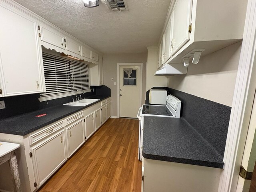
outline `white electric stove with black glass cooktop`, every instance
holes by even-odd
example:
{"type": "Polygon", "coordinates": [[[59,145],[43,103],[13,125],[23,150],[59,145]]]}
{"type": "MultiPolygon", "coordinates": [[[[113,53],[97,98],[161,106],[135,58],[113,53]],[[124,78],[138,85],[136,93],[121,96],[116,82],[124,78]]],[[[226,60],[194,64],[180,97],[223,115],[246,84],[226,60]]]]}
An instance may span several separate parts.
{"type": "Polygon", "coordinates": [[[172,96],[166,97],[166,105],[142,105],[139,108],[137,118],[140,120],[138,159],[142,160],[143,126],[144,116],[159,116],[167,118],[180,118],[181,101],[172,96]]]}

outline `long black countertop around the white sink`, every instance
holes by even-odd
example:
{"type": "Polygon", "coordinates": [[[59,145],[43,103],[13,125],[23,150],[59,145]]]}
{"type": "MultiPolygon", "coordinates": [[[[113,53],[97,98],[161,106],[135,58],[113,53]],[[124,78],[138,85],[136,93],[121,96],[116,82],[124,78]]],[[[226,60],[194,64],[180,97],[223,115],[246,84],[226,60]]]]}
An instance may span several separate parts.
{"type": "Polygon", "coordinates": [[[97,96],[97,95],[90,96],[88,98],[100,99],[100,100],[83,107],[58,105],[58,106],[6,118],[4,120],[1,120],[0,122],[0,133],[24,136],[44,126],[47,126],[53,122],[56,122],[62,118],[65,118],[66,116],[69,116],[78,111],[84,110],[85,108],[88,108],[109,97],[110,96],[97,96]],[[47,115],[42,117],[36,117],[39,114],[47,114],[47,115]]]}

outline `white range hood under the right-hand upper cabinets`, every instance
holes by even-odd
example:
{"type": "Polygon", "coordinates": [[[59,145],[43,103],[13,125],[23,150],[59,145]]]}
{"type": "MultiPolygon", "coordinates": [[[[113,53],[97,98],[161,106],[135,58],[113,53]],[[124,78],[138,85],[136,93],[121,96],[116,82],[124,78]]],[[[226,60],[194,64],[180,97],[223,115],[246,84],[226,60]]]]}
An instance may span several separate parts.
{"type": "Polygon", "coordinates": [[[164,64],[154,75],[180,75],[187,74],[188,67],[181,63],[164,64]]]}

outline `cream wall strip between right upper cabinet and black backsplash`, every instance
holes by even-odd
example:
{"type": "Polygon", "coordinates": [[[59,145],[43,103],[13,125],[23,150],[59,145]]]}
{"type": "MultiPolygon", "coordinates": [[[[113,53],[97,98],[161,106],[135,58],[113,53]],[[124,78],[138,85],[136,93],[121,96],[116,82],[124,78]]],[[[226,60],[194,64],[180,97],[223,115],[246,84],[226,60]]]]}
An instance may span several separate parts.
{"type": "Polygon", "coordinates": [[[232,106],[242,42],[238,42],[190,63],[188,73],[169,76],[168,87],[232,106]]]}

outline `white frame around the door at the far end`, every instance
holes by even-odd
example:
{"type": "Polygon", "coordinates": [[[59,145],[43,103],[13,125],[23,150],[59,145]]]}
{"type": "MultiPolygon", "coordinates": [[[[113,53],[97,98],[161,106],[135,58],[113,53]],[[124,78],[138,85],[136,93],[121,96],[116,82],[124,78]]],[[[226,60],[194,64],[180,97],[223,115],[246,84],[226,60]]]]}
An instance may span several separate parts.
{"type": "MultiPolygon", "coordinates": [[[[139,65],[140,66],[140,106],[142,106],[142,72],[143,72],[143,63],[118,63],[117,64],[117,118],[120,118],[120,98],[119,98],[119,84],[120,84],[120,67],[121,66],[133,66],[139,65]]],[[[139,106],[139,107],[140,107],[139,106]]]]}

